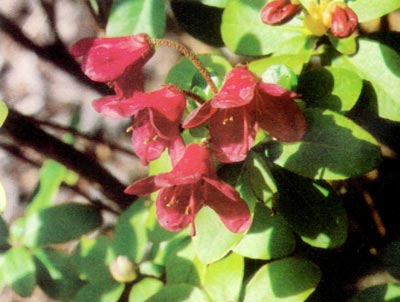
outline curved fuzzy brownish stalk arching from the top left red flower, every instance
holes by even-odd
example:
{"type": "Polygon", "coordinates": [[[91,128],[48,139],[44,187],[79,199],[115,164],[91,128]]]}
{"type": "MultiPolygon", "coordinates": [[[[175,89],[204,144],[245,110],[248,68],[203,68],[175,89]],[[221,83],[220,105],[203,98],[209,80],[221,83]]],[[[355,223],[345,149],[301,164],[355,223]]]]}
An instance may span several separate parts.
{"type": "Polygon", "coordinates": [[[157,46],[171,47],[179,51],[181,54],[187,57],[193,63],[194,66],[196,66],[196,68],[199,70],[201,75],[206,80],[207,84],[210,86],[211,91],[214,94],[218,92],[217,86],[215,86],[214,82],[212,81],[210,74],[208,73],[204,65],[200,62],[200,60],[196,57],[195,53],[191,51],[189,48],[175,41],[167,39],[151,39],[151,42],[157,46]]]}

